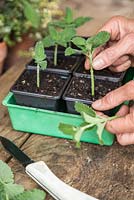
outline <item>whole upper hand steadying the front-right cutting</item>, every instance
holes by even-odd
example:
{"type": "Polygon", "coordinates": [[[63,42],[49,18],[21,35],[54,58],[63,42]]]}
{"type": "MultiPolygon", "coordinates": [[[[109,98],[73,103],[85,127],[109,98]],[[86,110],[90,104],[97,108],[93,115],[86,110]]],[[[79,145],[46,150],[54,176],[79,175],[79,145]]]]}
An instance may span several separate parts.
{"type": "MultiPolygon", "coordinates": [[[[134,56],[134,20],[122,16],[112,17],[99,31],[110,33],[110,42],[98,48],[94,54],[93,67],[96,70],[110,66],[110,70],[121,72],[128,69],[134,56]]],[[[88,59],[85,68],[89,69],[88,59]]]]}

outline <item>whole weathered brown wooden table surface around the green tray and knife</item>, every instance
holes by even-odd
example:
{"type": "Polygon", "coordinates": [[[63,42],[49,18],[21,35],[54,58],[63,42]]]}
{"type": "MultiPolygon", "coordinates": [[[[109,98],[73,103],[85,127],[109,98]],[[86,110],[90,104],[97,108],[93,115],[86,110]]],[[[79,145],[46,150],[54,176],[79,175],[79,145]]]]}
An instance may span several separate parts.
{"type": "MultiPolygon", "coordinates": [[[[91,5],[87,8],[81,0],[67,1],[68,5],[76,9],[78,7],[78,15],[81,15],[81,13],[86,15],[89,12],[90,16],[95,17],[96,13],[98,17],[95,9],[100,1],[88,0],[85,2],[91,3],[91,5]]],[[[94,33],[100,23],[109,16],[118,13],[117,9],[112,8],[120,8],[119,14],[132,8],[132,5],[130,5],[132,1],[130,1],[129,6],[125,4],[126,1],[113,1],[114,7],[111,7],[111,1],[107,1],[107,7],[109,2],[108,9],[105,4],[106,1],[103,0],[102,2],[103,6],[99,4],[98,9],[101,10],[103,15],[91,22],[92,30],[89,30],[87,26],[85,29],[81,29],[79,32],[82,35],[94,33]],[[117,2],[119,6],[115,6],[117,2]],[[122,12],[121,2],[125,4],[123,4],[122,12]],[[104,14],[105,12],[107,15],[104,14]]],[[[26,59],[20,59],[17,65],[11,67],[0,77],[0,102],[23,71],[26,62],[26,59]]],[[[113,146],[106,147],[82,143],[81,149],[76,149],[74,143],[69,140],[18,132],[13,130],[7,108],[1,103],[0,135],[12,140],[32,159],[45,161],[59,178],[83,192],[101,200],[134,200],[134,145],[122,147],[115,142],[113,146]]],[[[39,188],[25,174],[24,168],[18,161],[5,152],[1,144],[0,159],[12,167],[16,183],[24,185],[26,189],[39,188]]],[[[47,195],[47,200],[52,199],[47,195]]]]}

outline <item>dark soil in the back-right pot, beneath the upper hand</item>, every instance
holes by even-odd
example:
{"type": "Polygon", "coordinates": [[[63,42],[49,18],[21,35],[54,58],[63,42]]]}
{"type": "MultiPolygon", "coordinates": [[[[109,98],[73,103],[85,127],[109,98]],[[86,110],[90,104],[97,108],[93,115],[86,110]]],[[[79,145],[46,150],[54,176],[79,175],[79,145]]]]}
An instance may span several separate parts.
{"type": "MultiPolygon", "coordinates": [[[[75,73],[77,73],[77,75],[81,75],[84,77],[90,77],[90,71],[86,70],[84,68],[84,64],[85,61],[82,62],[82,64],[76,69],[75,73]]],[[[100,76],[100,77],[104,77],[105,79],[114,79],[117,81],[122,81],[125,72],[113,72],[111,70],[107,69],[103,69],[103,70],[94,70],[94,75],[95,76],[100,76]]]]}

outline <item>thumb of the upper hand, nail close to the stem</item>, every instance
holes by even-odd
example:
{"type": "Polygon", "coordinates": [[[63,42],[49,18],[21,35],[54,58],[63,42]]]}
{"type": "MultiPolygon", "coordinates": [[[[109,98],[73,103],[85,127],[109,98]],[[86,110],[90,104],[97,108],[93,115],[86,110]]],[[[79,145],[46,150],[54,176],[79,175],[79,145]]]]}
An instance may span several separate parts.
{"type": "Polygon", "coordinates": [[[134,55],[134,33],[127,34],[115,45],[98,54],[93,60],[94,69],[104,69],[125,54],[134,55]]]}

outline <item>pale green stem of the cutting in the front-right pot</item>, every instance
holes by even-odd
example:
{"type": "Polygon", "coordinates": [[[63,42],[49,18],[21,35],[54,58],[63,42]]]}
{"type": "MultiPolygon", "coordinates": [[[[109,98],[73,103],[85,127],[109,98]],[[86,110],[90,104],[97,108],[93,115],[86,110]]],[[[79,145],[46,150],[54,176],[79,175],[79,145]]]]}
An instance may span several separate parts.
{"type": "Polygon", "coordinates": [[[92,96],[95,95],[95,84],[94,84],[94,70],[93,70],[93,60],[92,60],[92,54],[89,53],[89,63],[90,63],[90,75],[91,75],[91,94],[92,96]]]}

